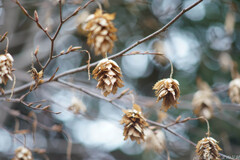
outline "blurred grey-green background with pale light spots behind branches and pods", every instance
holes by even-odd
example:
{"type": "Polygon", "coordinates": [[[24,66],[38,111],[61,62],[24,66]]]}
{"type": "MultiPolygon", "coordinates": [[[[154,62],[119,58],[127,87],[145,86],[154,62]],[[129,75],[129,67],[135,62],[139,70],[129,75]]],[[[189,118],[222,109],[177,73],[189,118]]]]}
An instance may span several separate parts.
{"type": "MultiPolygon", "coordinates": [[[[59,24],[59,8],[57,0],[21,0],[21,4],[33,15],[38,11],[39,21],[52,34],[59,24]]],[[[63,17],[71,14],[79,5],[87,1],[65,0],[63,17]]],[[[99,1],[107,13],[116,13],[114,20],[118,29],[118,40],[113,54],[125,49],[137,40],[163,27],[183,8],[196,0],[102,0],[99,1]]],[[[86,33],[82,23],[89,14],[98,8],[97,3],[91,3],[86,9],[67,21],[56,39],[54,54],[67,50],[70,45],[82,46],[91,53],[91,62],[101,59],[95,56],[93,50],[86,44],[86,33]]],[[[138,45],[131,51],[160,52],[168,57],[174,66],[173,78],[180,83],[181,97],[178,109],[171,108],[163,123],[168,124],[179,115],[182,118],[196,117],[193,113],[192,98],[198,90],[196,78],[209,84],[214,94],[220,98],[222,109],[215,109],[209,120],[211,136],[219,141],[222,153],[230,156],[240,156],[240,105],[232,104],[228,97],[228,84],[232,80],[230,64],[232,59],[240,62],[240,1],[238,0],[204,0],[202,3],[185,13],[165,32],[138,45]]],[[[28,19],[14,0],[0,0],[0,34],[8,31],[9,53],[14,57],[14,74],[16,86],[31,81],[27,72],[31,69],[32,53],[39,46],[38,56],[45,62],[50,53],[50,41],[46,35],[28,19]]],[[[4,53],[6,42],[0,43],[1,53],[4,53]]],[[[131,52],[130,51],[130,52],[131,52]]],[[[50,63],[45,77],[51,76],[57,67],[58,73],[86,64],[88,56],[84,53],[72,52],[61,56],[50,63]]],[[[35,60],[34,60],[35,61],[35,60]]],[[[152,86],[170,74],[169,61],[160,56],[134,55],[115,59],[123,72],[124,87],[121,93],[129,88],[136,96],[144,115],[151,120],[158,120],[161,102],[156,98],[152,86]]],[[[37,64],[35,67],[38,69],[37,64]]],[[[239,67],[238,67],[239,68],[239,67]]],[[[92,70],[92,68],[91,68],[92,70]]],[[[87,72],[80,72],[63,78],[74,84],[101,94],[96,89],[97,82],[88,80],[87,72]]],[[[8,83],[5,90],[11,88],[8,83]]],[[[21,92],[16,97],[25,93],[21,92]]],[[[114,96],[109,96],[113,98],[114,96]]],[[[116,97],[116,96],[115,96],[116,97]]],[[[123,112],[110,103],[91,97],[81,91],[63,86],[59,83],[48,83],[40,86],[26,100],[46,100],[54,112],[34,111],[37,120],[48,127],[62,126],[72,139],[72,160],[155,160],[167,159],[166,151],[157,153],[146,150],[130,140],[124,141],[123,126],[119,121],[123,112]],[[74,114],[68,108],[81,104],[80,114],[74,114]]],[[[126,95],[117,100],[123,108],[131,108],[131,96],[126,95]]],[[[24,141],[30,149],[45,149],[51,160],[66,159],[68,138],[66,134],[37,127],[36,141],[32,133],[25,138],[21,134],[12,135],[14,127],[19,122],[20,129],[31,129],[32,124],[15,118],[7,111],[8,108],[18,110],[28,116],[31,109],[22,104],[0,102],[0,159],[11,159],[14,150],[22,144],[14,140],[14,136],[24,141]]],[[[207,132],[206,123],[190,121],[171,127],[175,132],[197,143],[207,132]]],[[[182,139],[164,131],[166,148],[171,159],[193,159],[195,148],[182,139]]],[[[34,153],[34,159],[41,160],[44,156],[34,153]]]]}

